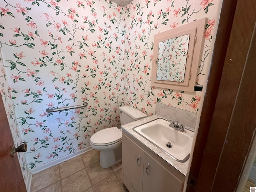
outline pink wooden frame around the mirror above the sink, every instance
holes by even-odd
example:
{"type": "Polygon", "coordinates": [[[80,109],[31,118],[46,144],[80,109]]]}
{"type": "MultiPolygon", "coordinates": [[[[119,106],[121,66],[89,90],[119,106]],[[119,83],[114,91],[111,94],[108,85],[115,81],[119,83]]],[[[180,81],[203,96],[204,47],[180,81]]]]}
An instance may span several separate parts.
{"type": "Polygon", "coordinates": [[[196,73],[200,56],[202,55],[202,47],[204,44],[204,29],[207,18],[202,18],[182,26],[160,32],[154,35],[154,48],[152,58],[152,76],[151,86],[156,88],[174,89],[181,91],[194,92],[196,83],[196,73]],[[158,46],[159,42],[171,38],[190,34],[188,45],[188,57],[185,68],[185,76],[183,82],[174,82],[166,80],[156,80],[157,63],[158,63],[158,46]]]}

